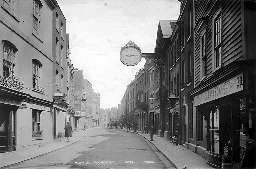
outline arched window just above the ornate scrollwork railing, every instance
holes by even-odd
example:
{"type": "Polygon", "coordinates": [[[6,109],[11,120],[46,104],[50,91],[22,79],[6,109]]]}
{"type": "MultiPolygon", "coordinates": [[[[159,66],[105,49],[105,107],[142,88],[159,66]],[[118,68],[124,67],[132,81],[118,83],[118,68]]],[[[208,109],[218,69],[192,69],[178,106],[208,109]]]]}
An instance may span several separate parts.
{"type": "Polygon", "coordinates": [[[3,77],[14,74],[15,54],[17,49],[10,43],[2,41],[3,46],[3,77]]]}

